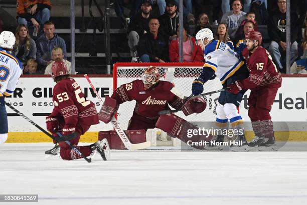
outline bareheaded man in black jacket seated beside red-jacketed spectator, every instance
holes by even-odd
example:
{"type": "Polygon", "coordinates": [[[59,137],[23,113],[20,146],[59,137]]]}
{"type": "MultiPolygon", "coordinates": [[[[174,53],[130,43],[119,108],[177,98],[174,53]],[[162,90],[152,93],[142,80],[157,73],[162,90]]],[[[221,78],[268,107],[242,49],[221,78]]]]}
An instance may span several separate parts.
{"type": "Polygon", "coordinates": [[[168,36],[159,30],[158,18],[149,20],[149,32],[140,36],[138,54],[142,62],[168,62],[168,36]]]}

